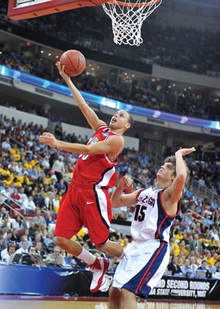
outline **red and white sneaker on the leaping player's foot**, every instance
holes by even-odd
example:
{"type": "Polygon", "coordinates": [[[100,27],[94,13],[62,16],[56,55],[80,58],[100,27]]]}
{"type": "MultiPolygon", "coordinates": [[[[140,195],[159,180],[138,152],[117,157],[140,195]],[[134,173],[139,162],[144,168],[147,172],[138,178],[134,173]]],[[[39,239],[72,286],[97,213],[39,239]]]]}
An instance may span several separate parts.
{"type": "Polygon", "coordinates": [[[93,280],[90,284],[90,292],[95,293],[99,290],[103,276],[108,270],[109,262],[106,258],[95,258],[95,262],[88,265],[89,270],[93,273],[93,280]]]}

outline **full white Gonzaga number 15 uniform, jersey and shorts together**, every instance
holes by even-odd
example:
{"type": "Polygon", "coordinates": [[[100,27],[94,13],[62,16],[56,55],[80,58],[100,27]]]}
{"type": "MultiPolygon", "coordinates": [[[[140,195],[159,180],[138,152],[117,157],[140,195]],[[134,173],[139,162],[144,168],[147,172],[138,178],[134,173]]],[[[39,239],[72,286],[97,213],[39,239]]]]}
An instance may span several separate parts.
{"type": "Polygon", "coordinates": [[[117,266],[112,286],[125,288],[139,297],[147,295],[166,271],[169,263],[169,231],[175,216],[169,216],[161,201],[165,188],[139,190],[132,218],[133,241],[117,266]]]}

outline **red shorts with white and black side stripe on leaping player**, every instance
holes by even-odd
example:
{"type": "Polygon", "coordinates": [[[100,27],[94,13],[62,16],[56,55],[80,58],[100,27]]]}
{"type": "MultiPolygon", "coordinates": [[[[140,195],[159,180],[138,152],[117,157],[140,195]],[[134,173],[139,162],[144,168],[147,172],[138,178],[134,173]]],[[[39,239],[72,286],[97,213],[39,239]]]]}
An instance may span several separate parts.
{"type": "Polygon", "coordinates": [[[60,202],[54,236],[71,239],[87,227],[91,242],[102,244],[108,240],[111,220],[108,190],[72,181],[60,202]]]}

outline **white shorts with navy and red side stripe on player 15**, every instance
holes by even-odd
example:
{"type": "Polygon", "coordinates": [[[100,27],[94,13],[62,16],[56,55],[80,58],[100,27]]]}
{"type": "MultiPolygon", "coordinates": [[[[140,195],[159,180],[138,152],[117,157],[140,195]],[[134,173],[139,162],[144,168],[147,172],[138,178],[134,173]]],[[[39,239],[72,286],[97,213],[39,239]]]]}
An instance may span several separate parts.
{"type": "Polygon", "coordinates": [[[169,244],[160,240],[131,242],[117,266],[112,286],[125,288],[139,297],[160,281],[169,264],[169,244]]]}

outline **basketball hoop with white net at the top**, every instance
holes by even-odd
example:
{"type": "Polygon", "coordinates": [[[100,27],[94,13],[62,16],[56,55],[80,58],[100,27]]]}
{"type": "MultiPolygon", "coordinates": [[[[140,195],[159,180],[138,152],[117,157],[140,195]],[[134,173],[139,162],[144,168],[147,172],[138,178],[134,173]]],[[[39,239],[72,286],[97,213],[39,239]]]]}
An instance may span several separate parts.
{"type": "Polygon", "coordinates": [[[143,43],[143,21],[158,8],[162,0],[112,0],[103,3],[103,10],[112,19],[113,41],[116,44],[139,46],[143,43]]]}

